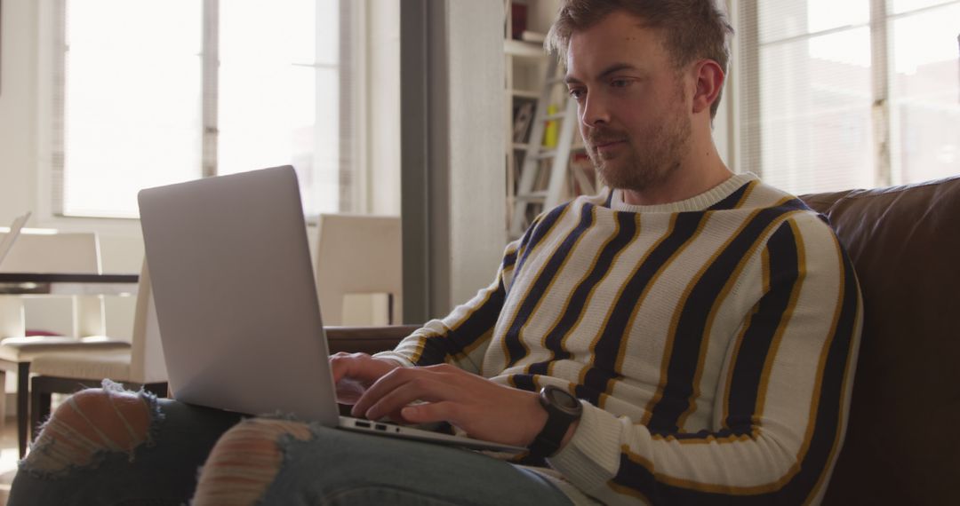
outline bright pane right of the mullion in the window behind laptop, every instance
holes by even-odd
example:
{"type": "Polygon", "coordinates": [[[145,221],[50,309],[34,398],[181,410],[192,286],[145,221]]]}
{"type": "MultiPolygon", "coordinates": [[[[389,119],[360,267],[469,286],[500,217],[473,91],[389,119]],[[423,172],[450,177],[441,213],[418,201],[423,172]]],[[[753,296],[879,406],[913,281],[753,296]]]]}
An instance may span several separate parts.
{"type": "Polygon", "coordinates": [[[340,208],[337,27],[334,1],[220,4],[217,172],[291,164],[310,215],[340,208]]]}

